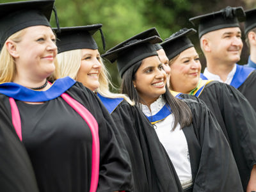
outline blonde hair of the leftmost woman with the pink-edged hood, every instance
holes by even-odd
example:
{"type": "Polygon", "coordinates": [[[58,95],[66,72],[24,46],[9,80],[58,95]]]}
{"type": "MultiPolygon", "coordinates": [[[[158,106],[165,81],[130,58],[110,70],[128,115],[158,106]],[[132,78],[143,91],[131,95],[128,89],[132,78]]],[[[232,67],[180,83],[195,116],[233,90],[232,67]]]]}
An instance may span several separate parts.
{"type": "MultiPolygon", "coordinates": [[[[22,29],[13,35],[11,35],[8,40],[12,40],[13,42],[20,42],[22,36],[24,35],[26,29],[22,29]]],[[[15,60],[12,55],[6,48],[6,44],[4,43],[3,48],[0,52],[0,83],[12,82],[16,75],[16,66],[15,60]]]]}

